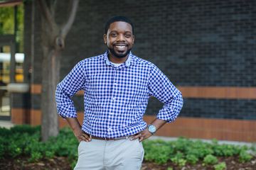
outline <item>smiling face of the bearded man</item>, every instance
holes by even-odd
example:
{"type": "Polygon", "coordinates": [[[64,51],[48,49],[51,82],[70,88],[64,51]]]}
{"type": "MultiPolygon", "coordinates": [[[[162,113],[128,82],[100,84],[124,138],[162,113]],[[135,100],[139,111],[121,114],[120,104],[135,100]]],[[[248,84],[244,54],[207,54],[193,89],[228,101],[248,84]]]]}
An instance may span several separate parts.
{"type": "Polygon", "coordinates": [[[104,42],[113,57],[127,57],[134,44],[132,26],[123,21],[111,23],[107,35],[104,35],[104,42]]]}

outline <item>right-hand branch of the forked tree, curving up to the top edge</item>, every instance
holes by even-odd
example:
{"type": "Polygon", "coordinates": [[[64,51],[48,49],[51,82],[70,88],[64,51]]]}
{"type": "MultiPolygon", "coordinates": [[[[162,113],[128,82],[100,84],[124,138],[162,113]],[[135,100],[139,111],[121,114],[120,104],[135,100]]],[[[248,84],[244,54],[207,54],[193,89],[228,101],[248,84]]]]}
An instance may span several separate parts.
{"type": "Polygon", "coordinates": [[[61,35],[63,38],[65,38],[65,36],[68,34],[68,31],[70,30],[71,26],[73,25],[73,22],[75,21],[75,13],[78,11],[79,0],[72,0],[72,2],[72,9],[70,11],[68,21],[61,28],[61,35]]]}

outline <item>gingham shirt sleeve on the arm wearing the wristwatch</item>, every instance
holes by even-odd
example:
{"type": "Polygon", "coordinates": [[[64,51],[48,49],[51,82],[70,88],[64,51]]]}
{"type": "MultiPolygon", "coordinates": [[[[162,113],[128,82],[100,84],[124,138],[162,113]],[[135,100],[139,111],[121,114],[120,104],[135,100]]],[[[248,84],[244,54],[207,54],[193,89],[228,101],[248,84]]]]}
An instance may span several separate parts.
{"type": "Polygon", "coordinates": [[[150,95],[164,103],[156,118],[166,120],[167,123],[176,120],[183,106],[181,92],[155,65],[151,69],[148,86],[150,95]]]}

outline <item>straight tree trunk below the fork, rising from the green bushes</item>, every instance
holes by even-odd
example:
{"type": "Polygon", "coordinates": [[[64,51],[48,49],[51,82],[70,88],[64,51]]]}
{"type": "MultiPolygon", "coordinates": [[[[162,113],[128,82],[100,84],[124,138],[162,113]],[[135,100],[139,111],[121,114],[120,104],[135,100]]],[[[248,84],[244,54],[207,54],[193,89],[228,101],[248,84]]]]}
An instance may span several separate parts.
{"type": "Polygon", "coordinates": [[[42,80],[42,140],[58,135],[58,113],[55,103],[55,89],[59,81],[60,50],[43,49],[43,80],[42,80]]]}

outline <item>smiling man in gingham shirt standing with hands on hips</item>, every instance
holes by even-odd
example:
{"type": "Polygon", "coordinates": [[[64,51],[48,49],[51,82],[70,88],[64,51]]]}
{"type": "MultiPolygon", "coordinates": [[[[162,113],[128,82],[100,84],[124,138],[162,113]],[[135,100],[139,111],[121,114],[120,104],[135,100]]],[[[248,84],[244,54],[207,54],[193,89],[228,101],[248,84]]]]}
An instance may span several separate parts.
{"type": "Polygon", "coordinates": [[[75,169],[140,169],[142,140],[174,121],[183,99],[154,64],[132,55],[134,26],[128,18],[107,21],[103,38],[107,52],[82,60],[58,84],[58,113],[80,142],[75,169]],[[70,99],[79,90],[85,91],[82,126],[70,99]],[[146,125],[142,118],[150,96],[164,107],[146,125]]]}

